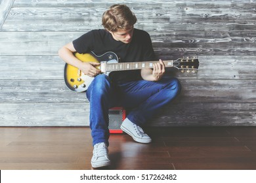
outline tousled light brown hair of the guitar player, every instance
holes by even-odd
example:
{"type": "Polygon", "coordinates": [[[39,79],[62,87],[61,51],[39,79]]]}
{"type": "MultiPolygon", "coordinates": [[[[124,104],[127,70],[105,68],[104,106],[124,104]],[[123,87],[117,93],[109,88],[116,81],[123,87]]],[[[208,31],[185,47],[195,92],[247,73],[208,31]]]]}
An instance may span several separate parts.
{"type": "Polygon", "coordinates": [[[135,14],[126,5],[112,5],[102,16],[103,27],[111,32],[130,29],[136,22],[135,14]]]}

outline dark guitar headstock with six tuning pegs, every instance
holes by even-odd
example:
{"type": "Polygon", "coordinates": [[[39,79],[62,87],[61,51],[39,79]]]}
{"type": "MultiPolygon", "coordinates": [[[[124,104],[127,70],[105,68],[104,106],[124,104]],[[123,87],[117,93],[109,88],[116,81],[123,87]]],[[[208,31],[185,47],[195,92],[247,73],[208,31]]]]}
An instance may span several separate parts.
{"type": "Polygon", "coordinates": [[[199,67],[198,58],[179,58],[173,61],[173,67],[181,70],[181,73],[196,73],[199,67]]]}

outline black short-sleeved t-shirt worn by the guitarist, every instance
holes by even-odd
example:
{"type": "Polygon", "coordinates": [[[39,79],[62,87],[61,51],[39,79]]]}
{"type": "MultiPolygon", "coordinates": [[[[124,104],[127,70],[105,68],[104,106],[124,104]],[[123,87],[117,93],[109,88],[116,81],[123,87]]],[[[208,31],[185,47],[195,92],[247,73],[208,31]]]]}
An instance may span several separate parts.
{"type": "MultiPolygon", "coordinates": [[[[119,62],[152,61],[155,59],[150,35],[146,31],[134,29],[133,39],[128,44],[116,41],[105,29],[97,29],[85,33],[73,41],[79,54],[93,51],[100,56],[106,52],[114,52],[119,62]]],[[[140,70],[115,71],[110,73],[114,82],[141,80],[140,70]]]]}

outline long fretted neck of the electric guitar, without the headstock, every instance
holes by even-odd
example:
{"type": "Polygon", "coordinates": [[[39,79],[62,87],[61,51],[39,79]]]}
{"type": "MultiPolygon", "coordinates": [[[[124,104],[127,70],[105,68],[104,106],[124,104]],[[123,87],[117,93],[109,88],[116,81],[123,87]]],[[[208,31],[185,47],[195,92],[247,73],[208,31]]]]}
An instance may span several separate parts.
{"type": "MultiPolygon", "coordinates": [[[[124,63],[106,63],[104,71],[129,71],[137,69],[153,69],[153,64],[159,61],[139,61],[139,62],[124,62],[124,63]]],[[[173,60],[163,61],[165,67],[173,67],[173,60]]]]}

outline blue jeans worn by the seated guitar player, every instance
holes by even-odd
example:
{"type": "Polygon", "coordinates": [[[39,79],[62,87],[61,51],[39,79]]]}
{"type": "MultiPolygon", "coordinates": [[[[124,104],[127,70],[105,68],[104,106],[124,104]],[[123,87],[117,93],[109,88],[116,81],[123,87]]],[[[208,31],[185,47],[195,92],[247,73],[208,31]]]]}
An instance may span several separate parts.
{"type": "Polygon", "coordinates": [[[142,127],[161,107],[171,102],[181,91],[177,78],[162,78],[159,82],[138,80],[113,84],[107,75],[98,75],[86,95],[90,101],[90,127],[93,145],[108,144],[108,109],[133,108],[127,115],[142,127]]]}

